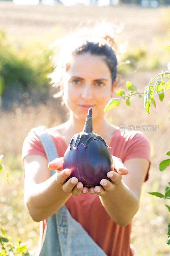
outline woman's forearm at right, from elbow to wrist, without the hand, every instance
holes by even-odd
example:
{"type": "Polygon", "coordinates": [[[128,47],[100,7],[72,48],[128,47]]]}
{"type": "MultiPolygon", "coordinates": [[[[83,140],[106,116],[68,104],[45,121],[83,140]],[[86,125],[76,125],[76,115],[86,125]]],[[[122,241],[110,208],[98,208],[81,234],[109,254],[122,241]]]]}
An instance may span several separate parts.
{"type": "Polygon", "coordinates": [[[115,186],[114,191],[99,197],[107,213],[120,226],[129,224],[139,207],[137,196],[123,181],[115,186]]]}

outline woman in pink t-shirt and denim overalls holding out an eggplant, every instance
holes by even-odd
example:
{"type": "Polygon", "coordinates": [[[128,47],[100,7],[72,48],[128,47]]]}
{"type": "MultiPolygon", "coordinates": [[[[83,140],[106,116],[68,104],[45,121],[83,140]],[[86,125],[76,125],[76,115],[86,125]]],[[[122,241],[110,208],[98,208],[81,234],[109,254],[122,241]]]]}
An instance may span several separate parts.
{"type": "Polygon", "coordinates": [[[48,157],[52,146],[45,148],[43,139],[41,141],[43,132],[30,132],[23,144],[24,201],[33,220],[40,222],[37,255],[131,256],[131,220],[139,207],[142,184],[148,179],[150,144],[143,133],[120,132],[119,127],[105,118],[103,110],[114,97],[117,86],[113,38],[106,35],[88,40],[74,38],[74,43],[69,41],[69,44],[63,45],[67,52],[60,62],[60,92],[70,117],[66,123],[46,130],[58,157],[48,157]],[[65,150],[72,136],[82,131],[90,107],[93,132],[111,147],[109,151],[117,171],[108,172],[111,181],[103,179],[101,186],[95,188],[83,187],[76,177],[66,182],[71,170],[62,170],[65,150]],[[48,167],[57,170],[51,177],[48,167]],[[63,216],[69,220],[64,224],[63,216]],[[73,236],[79,228],[81,232],[73,236]],[[51,244],[47,245],[50,239],[51,244]]]}

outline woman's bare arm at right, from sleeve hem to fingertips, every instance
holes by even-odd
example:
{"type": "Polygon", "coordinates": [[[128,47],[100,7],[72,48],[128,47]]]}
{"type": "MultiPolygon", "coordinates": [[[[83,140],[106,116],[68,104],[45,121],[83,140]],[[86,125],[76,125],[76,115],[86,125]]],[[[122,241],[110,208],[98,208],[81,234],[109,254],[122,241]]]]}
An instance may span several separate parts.
{"type": "Polygon", "coordinates": [[[113,174],[112,177],[109,177],[112,182],[101,180],[101,185],[106,182],[107,185],[96,186],[90,188],[89,191],[93,193],[100,189],[97,194],[107,213],[118,225],[126,226],[138,210],[141,187],[149,167],[149,161],[139,157],[128,159],[123,164],[120,158],[114,156],[114,162],[117,172],[107,173],[108,177],[109,174],[113,174]]]}

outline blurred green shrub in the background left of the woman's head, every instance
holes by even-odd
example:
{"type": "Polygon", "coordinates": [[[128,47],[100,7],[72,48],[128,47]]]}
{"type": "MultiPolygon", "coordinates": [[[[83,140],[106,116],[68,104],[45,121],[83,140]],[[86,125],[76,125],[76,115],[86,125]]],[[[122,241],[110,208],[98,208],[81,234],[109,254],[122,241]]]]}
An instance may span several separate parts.
{"type": "Polygon", "coordinates": [[[47,74],[53,68],[50,66],[51,50],[45,47],[43,51],[39,43],[35,47],[23,48],[8,42],[3,31],[0,31],[0,95],[9,90],[22,88],[22,91],[35,89],[42,94],[49,91],[50,79],[47,74]],[[41,53],[40,53],[41,52],[41,53]]]}

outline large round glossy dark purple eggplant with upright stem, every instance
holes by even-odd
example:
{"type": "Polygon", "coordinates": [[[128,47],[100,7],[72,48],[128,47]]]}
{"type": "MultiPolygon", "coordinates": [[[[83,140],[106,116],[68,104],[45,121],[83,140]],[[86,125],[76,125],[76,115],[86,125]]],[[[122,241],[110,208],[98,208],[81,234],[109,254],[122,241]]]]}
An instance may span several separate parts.
{"type": "Polygon", "coordinates": [[[83,131],[73,135],[63,157],[63,169],[71,170],[67,180],[76,177],[88,188],[101,186],[102,179],[110,180],[107,172],[114,170],[109,147],[92,129],[92,108],[89,108],[83,131]]]}

